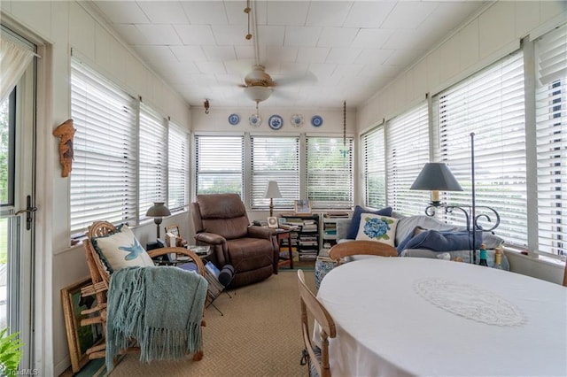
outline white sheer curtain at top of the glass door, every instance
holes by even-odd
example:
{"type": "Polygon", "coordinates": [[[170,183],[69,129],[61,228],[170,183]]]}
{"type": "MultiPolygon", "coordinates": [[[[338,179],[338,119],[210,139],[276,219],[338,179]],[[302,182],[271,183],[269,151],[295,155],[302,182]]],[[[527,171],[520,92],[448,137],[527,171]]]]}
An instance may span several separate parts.
{"type": "Polygon", "coordinates": [[[0,39],[0,104],[10,95],[19,78],[34,58],[34,52],[0,39]]]}

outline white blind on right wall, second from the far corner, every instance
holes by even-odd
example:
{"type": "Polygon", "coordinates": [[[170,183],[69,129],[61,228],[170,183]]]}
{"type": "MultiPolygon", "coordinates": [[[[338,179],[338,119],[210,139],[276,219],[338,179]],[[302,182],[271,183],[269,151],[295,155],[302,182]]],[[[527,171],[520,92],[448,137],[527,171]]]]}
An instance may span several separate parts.
{"type": "Polygon", "coordinates": [[[405,215],[422,214],[429,193],[410,190],[429,162],[427,103],[389,120],[386,132],[387,204],[405,215]]]}

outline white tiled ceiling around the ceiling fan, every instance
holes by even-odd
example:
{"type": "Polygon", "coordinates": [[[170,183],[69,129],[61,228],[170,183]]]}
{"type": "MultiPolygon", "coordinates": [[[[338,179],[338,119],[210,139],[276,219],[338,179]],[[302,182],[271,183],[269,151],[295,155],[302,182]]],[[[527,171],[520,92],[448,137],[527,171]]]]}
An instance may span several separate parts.
{"type": "Polygon", "coordinates": [[[363,104],[486,1],[93,1],[189,104],[251,106],[245,74],[276,81],[266,104],[363,104]]]}

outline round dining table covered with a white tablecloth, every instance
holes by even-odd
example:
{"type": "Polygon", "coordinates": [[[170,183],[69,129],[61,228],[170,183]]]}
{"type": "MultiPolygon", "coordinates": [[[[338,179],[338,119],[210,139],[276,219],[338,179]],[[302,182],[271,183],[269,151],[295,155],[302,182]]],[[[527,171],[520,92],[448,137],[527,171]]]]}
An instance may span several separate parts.
{"type": "Polygon", "coordinates": [[[334,377],[567,375],[567,289],[548,281],[373,258],[334,268],[317,296],[337,325],[334,377]]]}

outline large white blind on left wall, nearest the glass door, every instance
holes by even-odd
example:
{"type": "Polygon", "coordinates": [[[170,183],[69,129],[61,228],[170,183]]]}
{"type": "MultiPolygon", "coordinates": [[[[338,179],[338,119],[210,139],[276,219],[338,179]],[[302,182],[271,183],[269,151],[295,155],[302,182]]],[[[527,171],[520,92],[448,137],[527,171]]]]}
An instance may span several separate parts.
{"type": "Polygon", "coordinates": [[[136,220],[136,100],[75,59],[71,63],[74,163],[71,232],[100,219],[136,220]]]}

